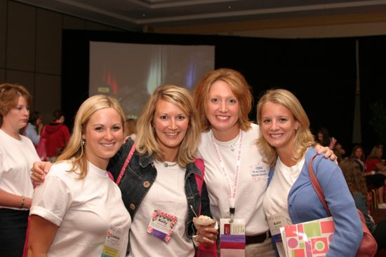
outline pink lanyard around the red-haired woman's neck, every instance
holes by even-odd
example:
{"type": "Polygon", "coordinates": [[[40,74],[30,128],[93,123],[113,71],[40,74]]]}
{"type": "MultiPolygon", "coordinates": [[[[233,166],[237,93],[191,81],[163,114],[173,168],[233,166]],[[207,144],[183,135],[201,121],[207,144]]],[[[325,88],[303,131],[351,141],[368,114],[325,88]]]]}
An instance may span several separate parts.
{"type": "Polygon", "coordinates": [[[229,214],[230,214],[230,218],[231,218],[231,222],[232,222],[233,221],[233,217],[234,217],[234,213],[236,211],[236,209],[234,208],[234,202],[235,202],[235,199],[236,199],[237,184],[239,183],[239,173],[240,173],[240,163],[241,163],[241,146],[242,146],[241,142],[243,141],[243,131],[240,130],[240,142],[239,142],[239,148],[238,148],[238,151],[237,151],[236,171],[234,172],[234,185],[233,185],[233,188],[231,188],[231,183],[229,181],[229,176],[228,176],[227,171],[225,170],[225,164],[222,161],[221,155],[220,155],[220,153],[218,151],[218,148],[217,148],[217,146],[215,144],[215,139],[213,137],[213,132],[212,132],[212,141],[213,141],[213,146],[215,148],[215,154],[216,154],[216,156],[218,158],[218,162],[220,163],[220,167],[221,167],[222,173],[224,174],[225,180],[228,183],[228,189],[229,189],[229,214]]]}

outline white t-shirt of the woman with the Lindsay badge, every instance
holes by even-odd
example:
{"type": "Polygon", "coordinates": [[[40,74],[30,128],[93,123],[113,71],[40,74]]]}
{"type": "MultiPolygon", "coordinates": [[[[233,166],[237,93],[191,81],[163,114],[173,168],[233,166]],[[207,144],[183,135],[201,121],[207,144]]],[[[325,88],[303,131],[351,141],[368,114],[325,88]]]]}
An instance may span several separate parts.
{"type": "Polygon", "coordinates": [[[124,231],[119,256],[126,256],[131,218],[121,190],[91,162],[84,179],[67,172],[70,168],[69,162],[53,165],[32,199],[29,214],[59,227],[48,256],[100,256],[109,228],[124,231]]]}

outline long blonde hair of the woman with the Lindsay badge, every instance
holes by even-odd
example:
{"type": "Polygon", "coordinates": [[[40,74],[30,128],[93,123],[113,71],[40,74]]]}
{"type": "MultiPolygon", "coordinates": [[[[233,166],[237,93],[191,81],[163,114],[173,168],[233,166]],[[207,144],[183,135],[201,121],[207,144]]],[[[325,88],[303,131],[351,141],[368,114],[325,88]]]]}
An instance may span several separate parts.
{"type": "MultiPolygon", "coordinates": [[[[58,162],[69,160],[72,163],[72,168],[69,172],[75,172],[76,169],[80,170],[78,179],[84,179],[88,172],[88,160],[86,158],[84,145],[81,144],[82,134],[86,131],[88,120],[90,120],[95,111],[105,108],[112,108],[119,113],[122,130],[124,130],[125,114],[117,99],[107,95],[94,95],[93,97],[89,97],[79,107],[75,116],[71,138],[65,150],[58,157],[58,162]]],[[[124,133],[124,131],[122,131],[122,133],[124,133]]]]}

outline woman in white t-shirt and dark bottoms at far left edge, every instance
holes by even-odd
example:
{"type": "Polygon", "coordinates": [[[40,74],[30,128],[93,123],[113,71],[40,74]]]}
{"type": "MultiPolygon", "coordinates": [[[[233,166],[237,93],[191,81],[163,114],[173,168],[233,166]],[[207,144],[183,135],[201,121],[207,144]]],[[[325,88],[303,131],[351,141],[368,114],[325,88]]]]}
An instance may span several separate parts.
{"type": "Polygon", "coordinates": [[[0,85],[0,255],[22,256],[34,188],[30,169],[39,160],[32,141],[19,134],[29,118],[31,95],[22,85],[0,85]]]}

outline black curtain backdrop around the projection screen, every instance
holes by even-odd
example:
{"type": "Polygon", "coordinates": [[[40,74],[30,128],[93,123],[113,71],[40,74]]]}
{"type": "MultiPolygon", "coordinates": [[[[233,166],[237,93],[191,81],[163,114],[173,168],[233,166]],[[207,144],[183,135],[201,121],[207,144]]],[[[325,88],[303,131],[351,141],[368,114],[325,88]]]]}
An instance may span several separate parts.
{"type": "MultiPolygon", "coordinates": [[[[354,98],[357,79],[355,42],[360,42],[362,139],[368,148],[378,140],[366,125],[366,102],[385,99],[386,38],[260,39],[239,36],[140,34],[64,30],[62,36],[62,109],[69,126],[88,97],[89,41],[165,43],[215,46],[215,68],[241,71],[253,88],[255,105],[269,88],[291,90],[307,112],[312,132],[327,127],[352,149],[354,98]],[[382,88],[382,94],[377,88],[382,88]],[[376,90],[375,90],[376,89],[376,90]]],[[[366,151],[368,153],[368,151],[366,151]]]]}

